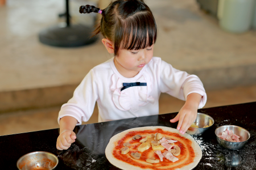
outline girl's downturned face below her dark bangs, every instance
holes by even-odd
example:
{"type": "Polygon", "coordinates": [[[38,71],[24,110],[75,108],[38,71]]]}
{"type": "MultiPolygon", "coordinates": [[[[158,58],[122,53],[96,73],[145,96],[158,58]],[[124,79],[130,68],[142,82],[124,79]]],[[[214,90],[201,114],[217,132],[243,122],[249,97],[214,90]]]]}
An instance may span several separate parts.
{"type": "Polygon", "coordinates": [[[153,57],[154,44],[144,49],[126,50],[119,49],[114,63],[119,73],[127,78],[133,77],[150,62],[153,57]]]}

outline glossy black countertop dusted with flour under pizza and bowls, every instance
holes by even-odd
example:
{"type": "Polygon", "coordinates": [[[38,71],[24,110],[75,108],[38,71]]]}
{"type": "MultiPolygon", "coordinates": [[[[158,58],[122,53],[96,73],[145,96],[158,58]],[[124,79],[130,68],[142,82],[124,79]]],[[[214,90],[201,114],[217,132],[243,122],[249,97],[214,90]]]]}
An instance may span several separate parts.
{"type": "MultiPolygon", "coordinates": [[[[214,125],[200,137],[203,157],[195,169],[256,169],[256,102],[200,109],[214,118],[214,125]],[[218,145],[214,130],[221,125],[247,129],[251,138],[241,150],[230,151],[218,145]],[[238,165],[237,165],[238,164],[238,165]]],[[[123,130],[142,126],[176,128],[170,119],[177,113],[76,126],[76,142],[68,150],[56,149],[59,129],[0,136],[0,169],[18,169],[17,160],[34,151],[47,151],[59,158],[56,169],[119,169],[108,162],[105,148],[109,139],[123,130]]]]}

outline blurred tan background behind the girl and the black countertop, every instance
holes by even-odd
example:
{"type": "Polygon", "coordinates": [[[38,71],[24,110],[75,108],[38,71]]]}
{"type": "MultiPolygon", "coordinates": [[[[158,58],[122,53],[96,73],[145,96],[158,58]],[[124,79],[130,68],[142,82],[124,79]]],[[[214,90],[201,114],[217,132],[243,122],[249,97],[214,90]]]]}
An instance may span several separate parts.
{"type": "MultiPolygon", "coordinates": [[[[90,69],[113,57],[101,36],[89,39],[100,14],[79,7],[109,2],[0,0],[0,135],[59,128],[61,105],[90,69]]],[[[158,24],[154,56],[199,76],[204,108],[256,101],[255,0],[145,2],[158,24]]],[[[159,104],[160,114],[172,113],[184,101],[162,94],[159,104]]],[[[96,104],[84,124],[97,121],[96,104]]]]}

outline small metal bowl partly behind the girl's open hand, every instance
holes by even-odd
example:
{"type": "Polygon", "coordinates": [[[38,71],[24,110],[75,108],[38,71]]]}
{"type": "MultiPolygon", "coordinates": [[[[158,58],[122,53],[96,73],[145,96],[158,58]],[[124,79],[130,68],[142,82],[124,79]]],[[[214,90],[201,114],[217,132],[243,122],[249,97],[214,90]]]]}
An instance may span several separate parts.
{"type": "MultiPolygon", "coordinates": [[[[209,121],[212,120],[212,125],[214,124],[214,120],[212,117],[210,117],[208,114],[204,113],[197,113],[196,120],[194,121],[195,125],[199,127],[204,127],[209,125],[209,121]]],[[[207,128],[192,128],[189,127],[188,130],[186,131],[190,135],[196,135],[200,136],[202,135],[205,131],[207,131],[212,125],[210,125],[207,128]]]]}

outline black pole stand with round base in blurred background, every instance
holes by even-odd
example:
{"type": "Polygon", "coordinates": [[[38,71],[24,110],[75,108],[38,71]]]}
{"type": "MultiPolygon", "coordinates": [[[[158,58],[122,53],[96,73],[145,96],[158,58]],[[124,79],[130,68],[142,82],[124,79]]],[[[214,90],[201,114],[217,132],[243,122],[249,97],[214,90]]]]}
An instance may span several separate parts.
{"type": "MultiPolygon", "coordinates": [[[[79,10],[77,8],[77,10],[79,10]]],[[[46,28],[39,33],[39,41],[46,45],[76,47],[92,44],[97,40],[92,37],[93,28],[69,22],[69,3],[66,0],[66,23],[46,28]]]]}

